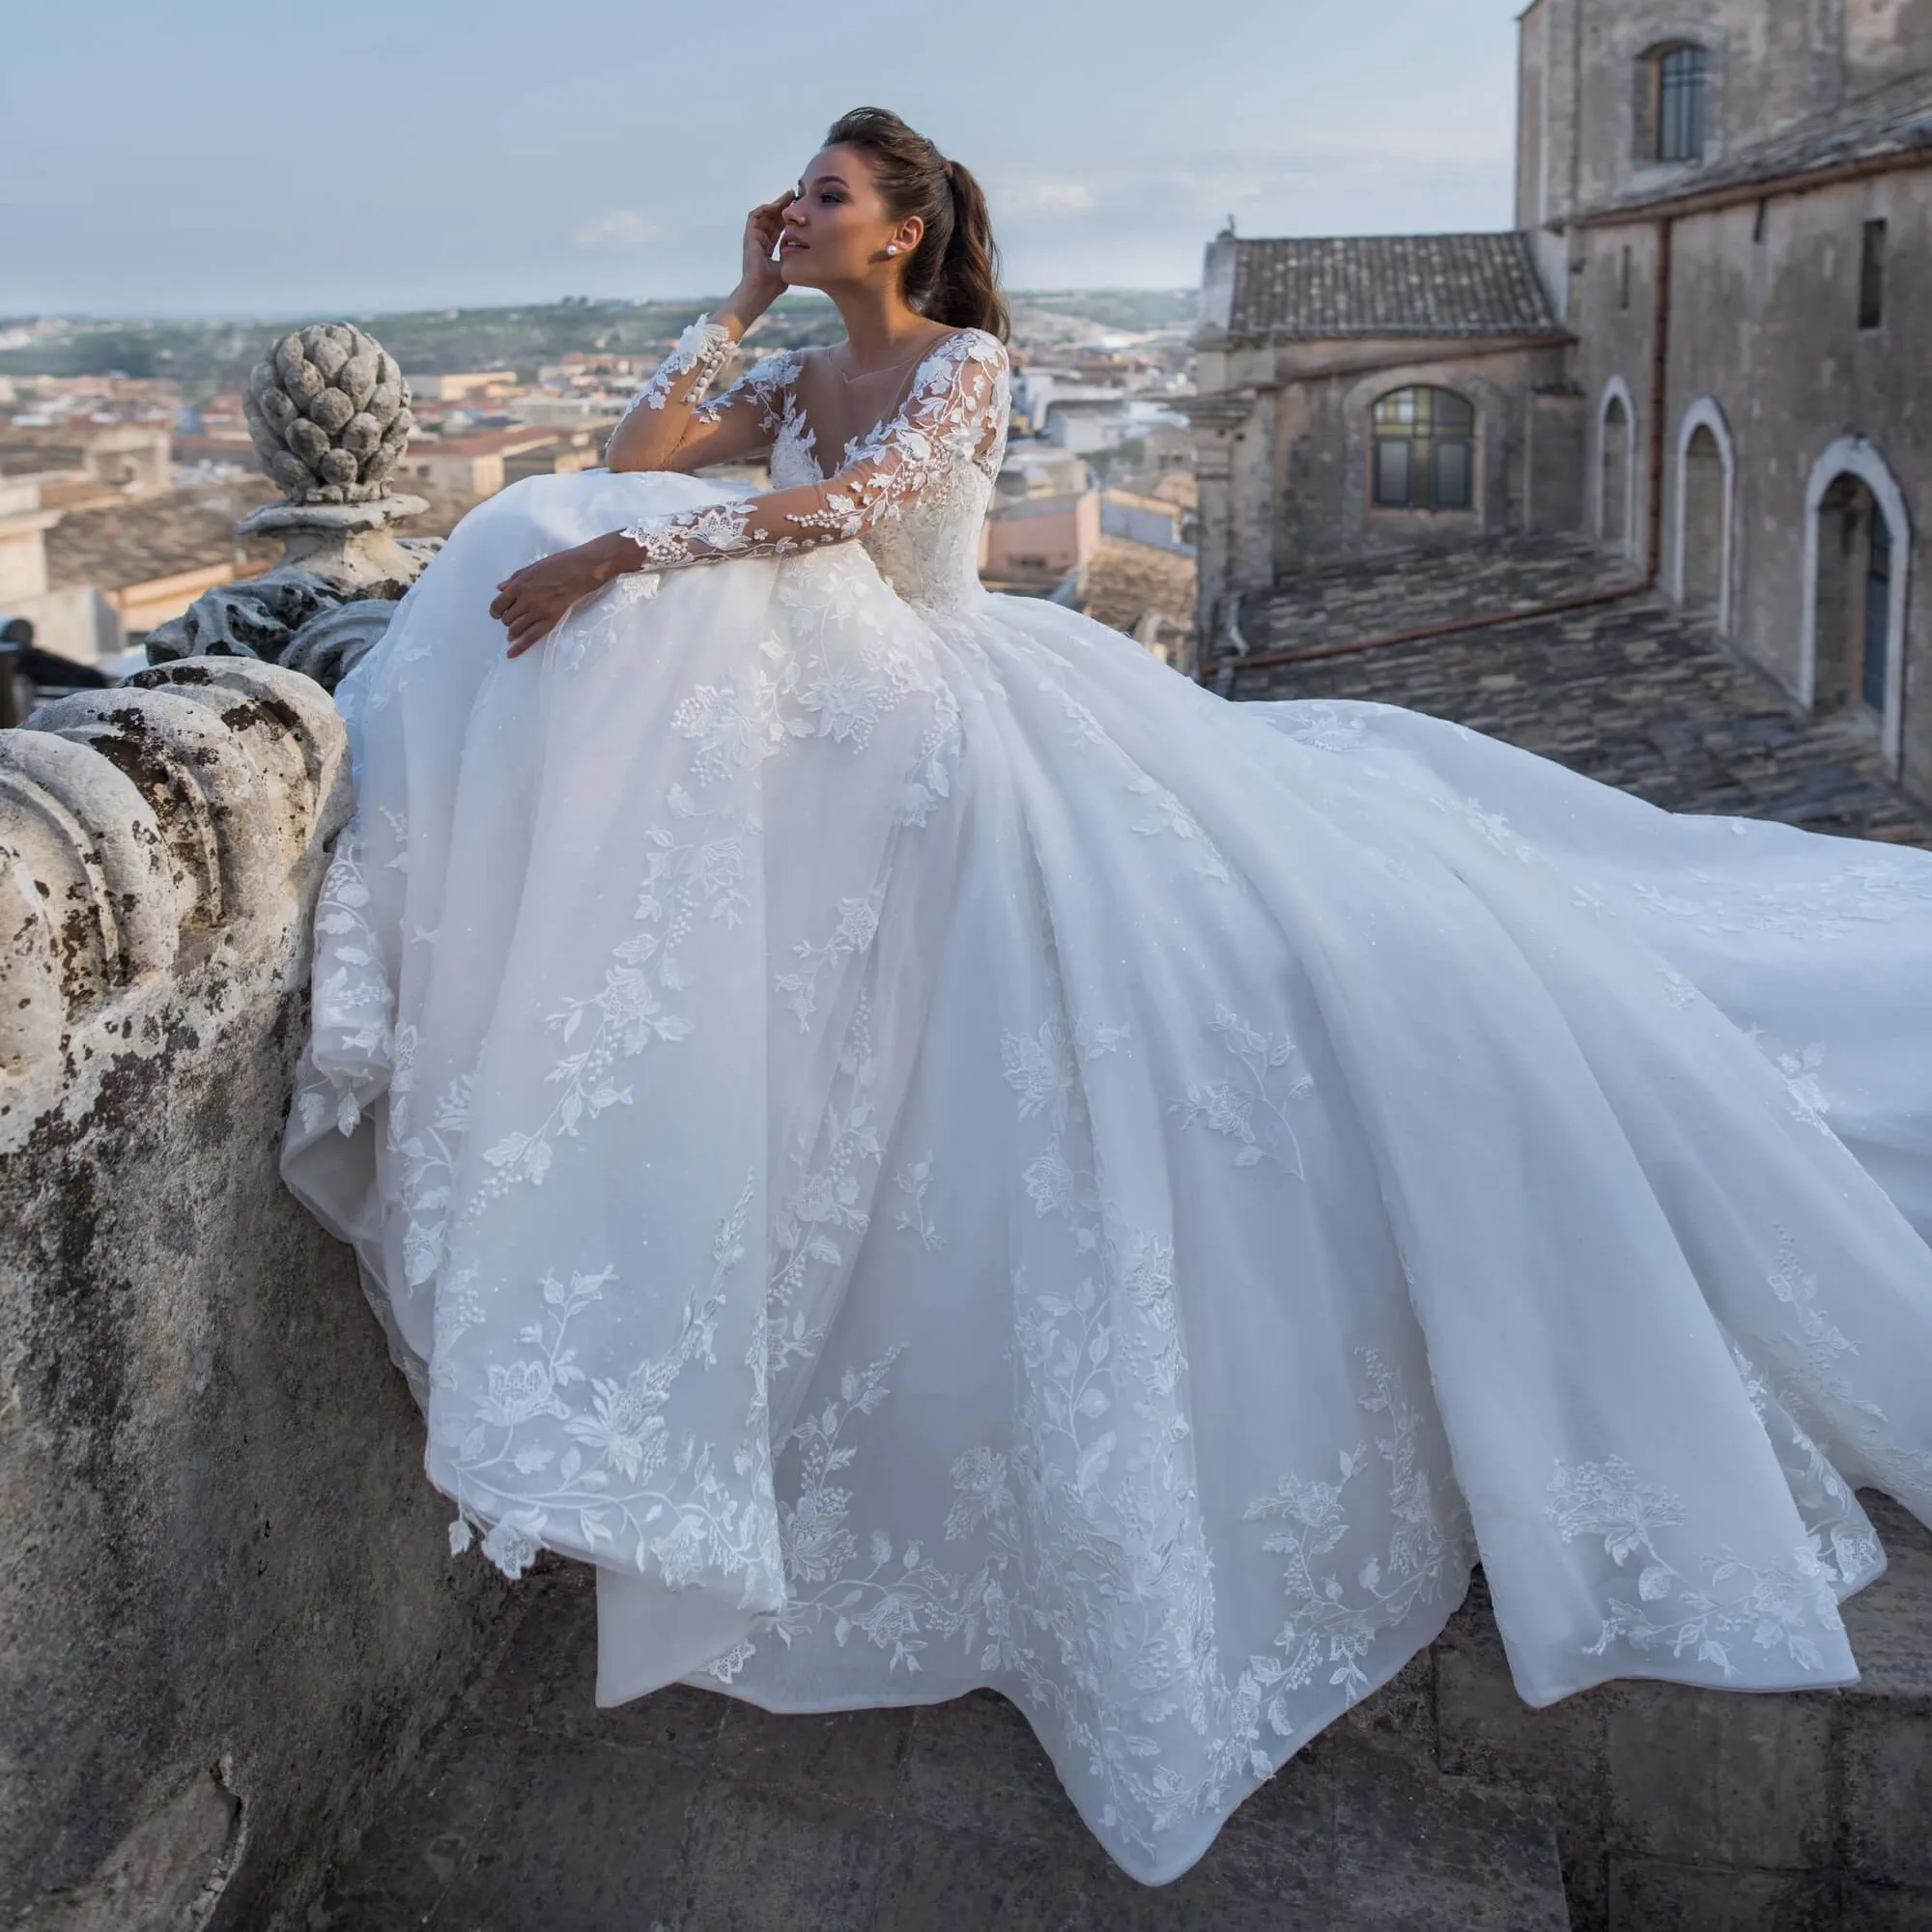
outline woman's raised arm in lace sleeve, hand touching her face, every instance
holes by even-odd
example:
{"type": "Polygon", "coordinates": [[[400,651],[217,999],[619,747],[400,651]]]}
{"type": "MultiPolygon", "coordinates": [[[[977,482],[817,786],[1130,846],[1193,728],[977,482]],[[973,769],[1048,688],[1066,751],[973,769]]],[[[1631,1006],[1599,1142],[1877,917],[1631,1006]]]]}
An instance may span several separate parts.
{"type": "Polygon", "coordinates": [[[744,340],[781,294],[784,280],[771,251],[784,226],[790,189],[777,201],[752,209],[744,222],[744,272],[736,290],[715,315],[699,315],[678,336],[676,346],[657,365],[651,379],[630,400],[622,421],[605,444],[611,469],[697,469],[728,462],[763,448],[761,417],[767,413],[734,390],[717,404],[699,408],[719,365],[744,340]]]}

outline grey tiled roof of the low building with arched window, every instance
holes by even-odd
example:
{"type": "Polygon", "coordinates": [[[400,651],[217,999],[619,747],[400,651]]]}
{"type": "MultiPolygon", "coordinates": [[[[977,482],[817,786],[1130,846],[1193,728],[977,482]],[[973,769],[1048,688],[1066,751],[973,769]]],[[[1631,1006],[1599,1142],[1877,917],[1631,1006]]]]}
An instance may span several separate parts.
{"type": "Polygon", "coordinates": [[[1528,236],[1215,236],[1204,327],[1231,336],[1555,336],[1528,236]]]}

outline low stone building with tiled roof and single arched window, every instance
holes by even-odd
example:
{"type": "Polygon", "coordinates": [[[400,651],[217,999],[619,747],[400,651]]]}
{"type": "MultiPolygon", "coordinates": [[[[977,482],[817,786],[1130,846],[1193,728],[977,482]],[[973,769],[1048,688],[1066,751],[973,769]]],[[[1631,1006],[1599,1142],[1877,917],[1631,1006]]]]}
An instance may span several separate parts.
{"type": "Polygon", "coordinates": [[[1520,234],[1215,236],[1186,404],[1204,580],[1575,524],[1571,346],[1520,234]]]}

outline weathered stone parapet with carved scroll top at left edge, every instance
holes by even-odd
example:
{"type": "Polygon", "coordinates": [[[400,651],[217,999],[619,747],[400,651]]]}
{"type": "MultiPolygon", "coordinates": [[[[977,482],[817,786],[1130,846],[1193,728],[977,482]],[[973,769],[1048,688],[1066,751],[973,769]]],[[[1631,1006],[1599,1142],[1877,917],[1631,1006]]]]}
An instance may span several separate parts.
{"type": "Polygon", "coordinates": [[[276,1175],[340,719],[137,684],[0,734],[0,1915],[272,1932],[510,1617],[276,1175]]]}

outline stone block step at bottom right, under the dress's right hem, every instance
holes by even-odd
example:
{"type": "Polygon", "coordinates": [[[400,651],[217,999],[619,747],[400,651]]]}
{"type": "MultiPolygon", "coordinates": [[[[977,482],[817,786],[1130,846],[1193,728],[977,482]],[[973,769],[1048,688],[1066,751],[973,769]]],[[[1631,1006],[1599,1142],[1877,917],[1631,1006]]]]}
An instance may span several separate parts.
{"type": "Polygon", "coordinates": [[[1889,1561],[1845,1604],[1845,1690],[1621,1681],[1530,1710],[1478,1578],[1347,1723],[1449,1781],[1549,1801],[1577,1932],[1932,1928],[1932,1536],[1861,1501],[1889,1561]]]}

